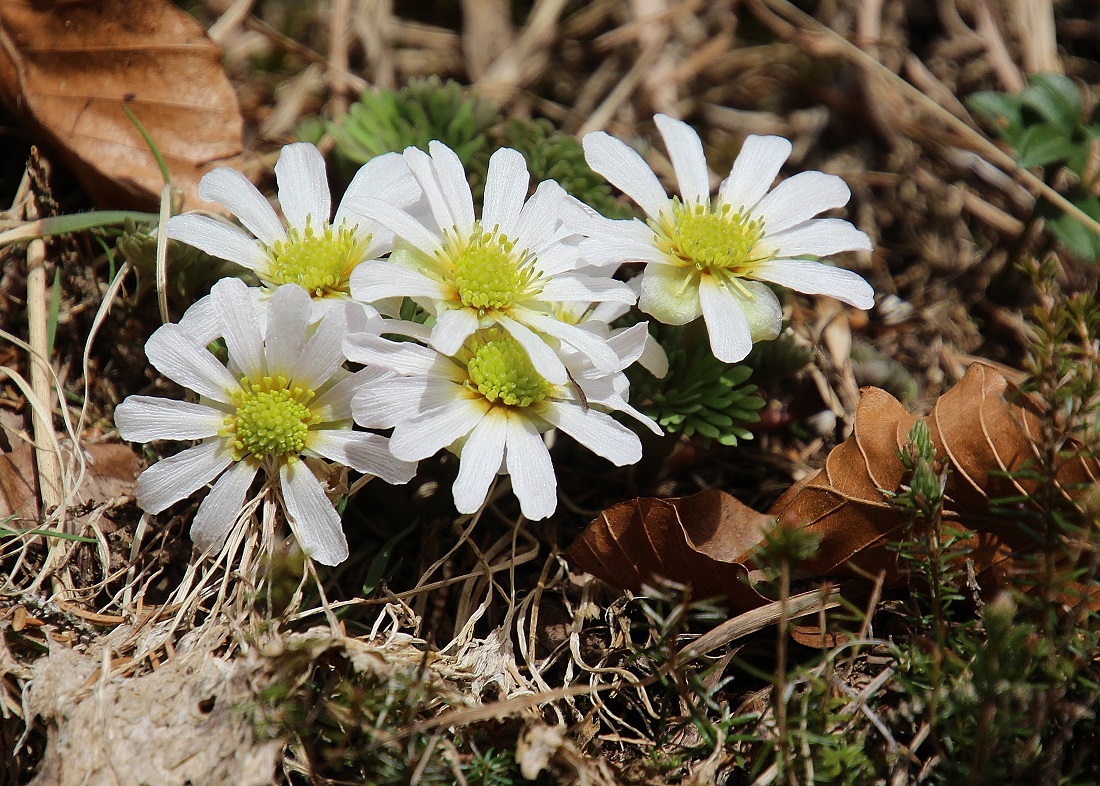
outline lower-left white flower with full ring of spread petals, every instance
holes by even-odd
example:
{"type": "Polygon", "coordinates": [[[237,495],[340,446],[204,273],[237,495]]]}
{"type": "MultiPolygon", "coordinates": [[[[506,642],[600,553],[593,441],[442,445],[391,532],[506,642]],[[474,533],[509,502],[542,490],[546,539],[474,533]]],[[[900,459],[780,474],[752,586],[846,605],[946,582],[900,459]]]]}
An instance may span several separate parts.
{"type": "Polygon", "coordinates": [[[330,309],[311,329],[310,298],[297,285],[273,292],[263,331],[260,307],[240,279],[222,279],[210,298],[228,367],[178,324],[163,325],[145,345],[153,366],[199,402],[131,396],[114,412],[124,440],[201,440],[143,472],[138,503],[158,513],[217,478],[191,524],[195,545],[208,551],[224,541],[263,469],[278,476],[306,553],[336,565],[348,556],[340,517],[301,460],[337,462],[388,483],[406,483],[416,469],[393,456],[386,438],[352,431],[354,389],[376,372],[342,368],[344,309],[330,309]]]}

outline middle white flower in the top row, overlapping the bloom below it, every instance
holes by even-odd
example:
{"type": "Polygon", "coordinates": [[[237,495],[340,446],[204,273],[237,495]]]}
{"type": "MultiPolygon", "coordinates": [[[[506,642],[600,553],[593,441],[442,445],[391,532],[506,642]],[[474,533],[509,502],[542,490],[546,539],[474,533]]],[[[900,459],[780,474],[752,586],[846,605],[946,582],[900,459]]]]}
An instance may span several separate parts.
{"type": "Polygon", "coordinates": [[[522,155],[499,150],[490,159],[484,209],[476,219],[459,157],[439,142],[430,151],[405,151],[430,219],[419,221],[381,199],[345,200],[349,211],[391,228],[399,239],[388,261],[355,269],[352,295],[367,303],[413,298],[435,314],[430,343],[444,355],[459,352],[480,328],[498,325],[556,385],[566,380],[554,352],[559,341],[601,368],[614,367],[618,358],[606,343],[553,314],[559,301],[636,299],[609,275],[578,272],[580,254],[575,243],[564,242],[570,233],[559,215],[562,188],[546,181],[526,199],[529,175],[522,155]]]}

